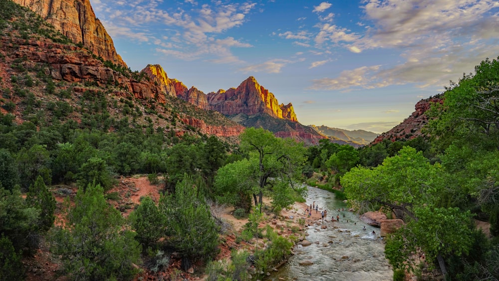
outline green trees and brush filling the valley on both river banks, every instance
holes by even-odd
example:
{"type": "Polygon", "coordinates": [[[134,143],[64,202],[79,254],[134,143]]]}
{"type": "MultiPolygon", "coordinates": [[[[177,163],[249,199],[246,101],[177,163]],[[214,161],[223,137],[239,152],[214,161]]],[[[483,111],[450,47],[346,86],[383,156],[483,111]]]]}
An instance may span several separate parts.
{"type": "MultiPolygon", "coordinates": [[[[72,44],[10,1],[0,1],[0,15],[2,38],[72,44]]],[[[451,82],[440,94],[444,103],[427,112],[426,137],[356,149],[328,140],[305,147],[261,128],[247,128],[237,140],[209,136],[182,124],[179,114],[194,109],[174,98],[157,104],[116,97],[112,83],[91,81],[81,85],[92,91],[76,94],[54,81],[47,65],[0,47],[10,69],[0,80],[0,280],[32,277],[29,261],[40,252],[58,265],[54,279],[133,280],[164,271],[177,253],[183,272],[196,266],[207,280],[256,280],[298,241],[298,230],[283,237],[260,222],[302,202],[302,182],[359,212],[404,220],[386,241],[394,280],[499,279],[498,59],[451,82]],[[180,126],[187,133],[177,134],[180,126]],[[159,200],[146,196],[114,208],[120,198],[110,190],[137,174],[161,187],[159,200]],[[233,234],[216,212],[221,205],[248,219],[234,234],[238,245],[265,239],[266,247],[241,246],[218,262],[233,234]],[[120,209],[132,210],[125,218],[120,209]]]]}

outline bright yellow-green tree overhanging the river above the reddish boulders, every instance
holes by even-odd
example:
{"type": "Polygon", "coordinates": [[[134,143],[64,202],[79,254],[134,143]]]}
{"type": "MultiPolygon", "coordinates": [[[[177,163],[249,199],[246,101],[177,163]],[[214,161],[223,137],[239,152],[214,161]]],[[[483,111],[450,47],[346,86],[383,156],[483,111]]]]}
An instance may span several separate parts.
{"type": "Polygon", "coordinates": [[[422,152],[406,146],[378,167],[352,168],[341,178],[341,185],[364,210],[381,204],[415,219],[413,206],[433,206],[438,201],[441,171],[440,164],[431,165],[422,152]]]}

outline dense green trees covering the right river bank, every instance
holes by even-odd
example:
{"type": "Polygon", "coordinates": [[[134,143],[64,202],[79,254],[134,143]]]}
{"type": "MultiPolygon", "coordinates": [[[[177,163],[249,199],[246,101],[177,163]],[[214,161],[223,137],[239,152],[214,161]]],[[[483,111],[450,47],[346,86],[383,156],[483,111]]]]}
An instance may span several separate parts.
{"type": "Polygon", "coordinates": [[[385,206],[404,218],[386,245],[396,269],[420,274],[424,264],[414,257],[423,254],[449,280],[499,278],[498,96],[499,60],[487,59],[432,106],[429,150],[403,146],[341,178],[360,208],[385,206]],[[489,221],[491,240],[472,219],[489,221]]]}

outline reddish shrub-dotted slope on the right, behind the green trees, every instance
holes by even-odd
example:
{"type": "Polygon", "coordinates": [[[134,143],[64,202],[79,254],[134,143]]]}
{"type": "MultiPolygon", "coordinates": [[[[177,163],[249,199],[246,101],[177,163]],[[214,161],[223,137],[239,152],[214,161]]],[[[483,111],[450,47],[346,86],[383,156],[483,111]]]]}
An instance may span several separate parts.
{"type": "Polygon", "coordinates": [[[413,139],[422,136],[421,129],[424,125],[428,124],[428,116],[425,112],[430,109],[432,103],[443,103],[442,96],[435,96],[427,99],[422,99],[416,103],[415,111],[406,118],[402,123],[395,126],[390,131],[379,135],[372,141],[371,144],[377,144],[383,140],[390,140],[392,142],[399,139],[413,139]]]}

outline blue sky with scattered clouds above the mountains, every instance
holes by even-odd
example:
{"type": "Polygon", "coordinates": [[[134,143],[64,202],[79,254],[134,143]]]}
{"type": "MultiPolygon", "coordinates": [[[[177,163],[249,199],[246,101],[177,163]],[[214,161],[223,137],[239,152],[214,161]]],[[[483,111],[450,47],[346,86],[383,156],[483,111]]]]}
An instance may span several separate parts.
{"type": "Polygon", "coordinates": [[[305,125],[390,130],[499,56],[497,0],[90,0],[132,70],[209,93],[249,76],[305,125]]]}

